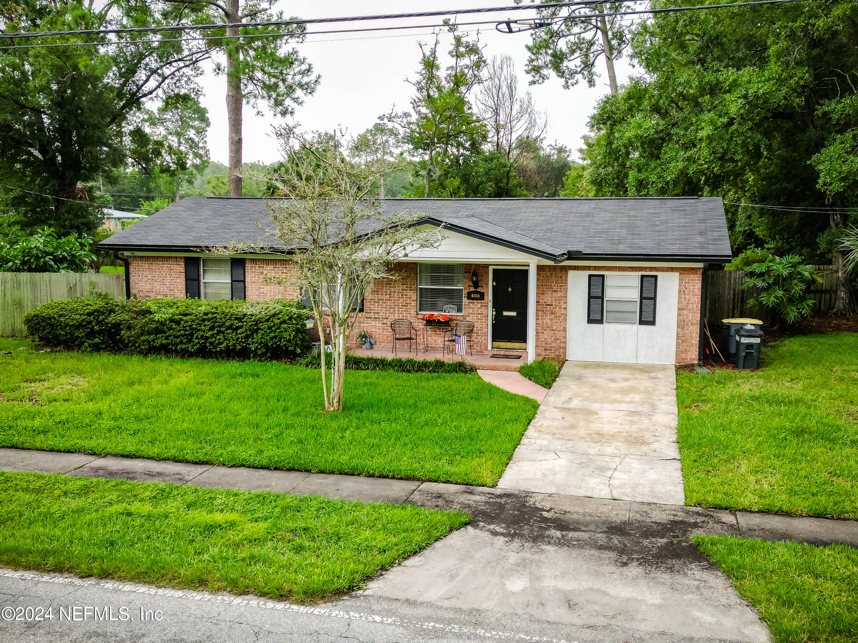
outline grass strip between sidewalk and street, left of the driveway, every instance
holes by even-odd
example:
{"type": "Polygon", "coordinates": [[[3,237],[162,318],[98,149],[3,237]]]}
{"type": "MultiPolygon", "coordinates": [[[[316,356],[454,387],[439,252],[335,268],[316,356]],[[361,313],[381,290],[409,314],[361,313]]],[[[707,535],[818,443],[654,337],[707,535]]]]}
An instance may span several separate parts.
{"type": "Polygon", "coordinates": [[[0,565],[296,601],[360,587],[466,514],[0,472],[0,565]]]}

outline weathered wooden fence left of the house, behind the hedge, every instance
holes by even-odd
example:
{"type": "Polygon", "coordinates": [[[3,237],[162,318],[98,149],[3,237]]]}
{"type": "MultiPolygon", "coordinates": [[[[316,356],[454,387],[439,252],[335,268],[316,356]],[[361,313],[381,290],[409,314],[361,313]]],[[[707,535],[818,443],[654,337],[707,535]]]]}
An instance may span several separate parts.
{"type": "Polygon", "coordinates": [[[24,337],[23,317],[45,302],[86,295],[95,290],[125,298],[121,273],[0,273],[0,337],[24,337]]]}

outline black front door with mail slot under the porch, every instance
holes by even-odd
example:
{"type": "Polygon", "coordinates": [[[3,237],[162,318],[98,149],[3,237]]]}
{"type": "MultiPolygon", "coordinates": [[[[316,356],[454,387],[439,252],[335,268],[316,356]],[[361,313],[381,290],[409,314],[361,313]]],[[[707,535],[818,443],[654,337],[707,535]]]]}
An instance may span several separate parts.
{"type": "Polygon", "coordinates": [[[492,348],[524,350],[528,340],[528,271],[492,271],[492,348]]]}

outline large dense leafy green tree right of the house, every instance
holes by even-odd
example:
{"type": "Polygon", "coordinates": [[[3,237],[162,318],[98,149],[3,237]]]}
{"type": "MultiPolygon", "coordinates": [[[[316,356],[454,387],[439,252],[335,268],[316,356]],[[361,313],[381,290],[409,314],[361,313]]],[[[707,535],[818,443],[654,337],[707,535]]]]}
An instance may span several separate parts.
{"type": "Polygon", "coordinates": [[[655,15],[632,57],[644,74],[591,117],[589,192],[723,196],[735,251],[833,261],[834,312],[855,314],[858,4],[655,15]]]}

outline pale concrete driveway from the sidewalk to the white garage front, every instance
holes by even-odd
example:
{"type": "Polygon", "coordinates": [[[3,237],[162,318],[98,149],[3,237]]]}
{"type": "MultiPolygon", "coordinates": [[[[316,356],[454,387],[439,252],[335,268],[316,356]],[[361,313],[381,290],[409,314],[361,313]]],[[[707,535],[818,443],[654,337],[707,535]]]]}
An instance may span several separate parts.
{"type": "Polygon", "coordinates": [[[673,366],[566,362],[498,488],[681,505],[673,366]]]}

